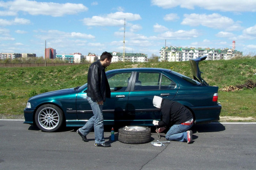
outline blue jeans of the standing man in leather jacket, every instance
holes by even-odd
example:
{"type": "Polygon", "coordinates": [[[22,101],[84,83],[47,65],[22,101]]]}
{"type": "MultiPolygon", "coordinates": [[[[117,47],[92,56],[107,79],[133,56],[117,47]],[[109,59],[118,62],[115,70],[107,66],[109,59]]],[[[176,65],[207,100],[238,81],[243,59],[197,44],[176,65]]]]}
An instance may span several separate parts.
{"type": "Polygon", "coordinates": [[[94,128],[95,143],[102,144],[105,142],[102,115],[103,105],[98,105],[97,102],[95,102],[95,100],[89,97],[87,97],[87,100],[92,107],[93,116],[88,120],[86,125],[84,125],[82,128],[79,128],[79,131],[81,132],[81,134],[86,136],[94,128]]]}

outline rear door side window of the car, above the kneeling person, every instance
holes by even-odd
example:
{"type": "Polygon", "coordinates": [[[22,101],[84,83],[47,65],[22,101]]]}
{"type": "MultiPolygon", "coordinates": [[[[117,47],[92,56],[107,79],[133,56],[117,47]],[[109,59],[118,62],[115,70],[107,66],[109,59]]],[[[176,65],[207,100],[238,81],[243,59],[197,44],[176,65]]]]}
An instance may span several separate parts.
{"type": "Polygon", "coordinates": [[[160,78],[157,72],[137,72],[134,90],[159,90],[160,78]]]}

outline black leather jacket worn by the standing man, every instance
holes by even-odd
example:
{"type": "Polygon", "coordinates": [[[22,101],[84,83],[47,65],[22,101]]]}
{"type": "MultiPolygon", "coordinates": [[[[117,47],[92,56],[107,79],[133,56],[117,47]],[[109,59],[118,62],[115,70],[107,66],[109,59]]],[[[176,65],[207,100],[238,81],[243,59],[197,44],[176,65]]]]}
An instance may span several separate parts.
{"type": "Polygon", "coordinates": [[[87,96],[94,99],[95,102],[105,101],[110,98],[110,85],[105,74],[105,67],[100,60],[91,64],[88,70],[87,96]]]}

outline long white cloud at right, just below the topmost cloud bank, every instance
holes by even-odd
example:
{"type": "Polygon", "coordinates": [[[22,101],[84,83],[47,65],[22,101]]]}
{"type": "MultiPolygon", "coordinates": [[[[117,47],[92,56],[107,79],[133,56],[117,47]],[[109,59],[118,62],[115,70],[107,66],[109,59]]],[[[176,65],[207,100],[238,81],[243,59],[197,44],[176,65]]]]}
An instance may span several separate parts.
{"type": "Polygon", "coordinates": [[[205,26],[214,29],[241,30],[239,23],[235,23],[231,18],[222,16],[217,13],[206,14],[184,14],[182,25],[188,26],[205,26]]]}

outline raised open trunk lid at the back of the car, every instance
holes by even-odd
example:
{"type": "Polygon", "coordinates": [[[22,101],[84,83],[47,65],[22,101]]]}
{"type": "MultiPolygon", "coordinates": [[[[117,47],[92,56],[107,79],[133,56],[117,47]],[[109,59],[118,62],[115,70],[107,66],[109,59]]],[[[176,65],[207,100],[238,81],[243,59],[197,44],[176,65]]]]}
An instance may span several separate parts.
{"type": "Polygon", "coordinates": [[[201,78],[201,73],[203,73],[203,72],[201,72],[199,69],[199,62],[205,60],[206,58],[207,58],[207,56],[203,56],[200,58],[189,60],[189,64],[191,67],[193,79],[202,83],[205,86],[208,86],[209,84],[206,83],[203,78],[201,78]]]}

